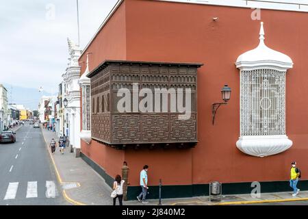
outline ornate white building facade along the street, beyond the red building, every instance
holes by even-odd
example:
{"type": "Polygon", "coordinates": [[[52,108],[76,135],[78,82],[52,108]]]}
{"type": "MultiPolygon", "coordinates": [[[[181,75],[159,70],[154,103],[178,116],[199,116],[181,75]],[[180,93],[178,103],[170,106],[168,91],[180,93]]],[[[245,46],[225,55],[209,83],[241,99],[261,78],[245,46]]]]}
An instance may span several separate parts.
{"type": "Polygon", "coordinates": [[[80,66],[79,57],[81,55],[81,49],[79,45],[75,44],[68,39],[68,51],[69,51],[69,62],[66,68],[66,73],[62,75],[64,80],[64,98],[68,100],[68,106],[65,107],[65,129],[66,135],[69,137],[70,145],[73,146],[76,156],[79,156],[80,152],[80,88],[79,88],[79,77],[80,77],[80,66]]]}

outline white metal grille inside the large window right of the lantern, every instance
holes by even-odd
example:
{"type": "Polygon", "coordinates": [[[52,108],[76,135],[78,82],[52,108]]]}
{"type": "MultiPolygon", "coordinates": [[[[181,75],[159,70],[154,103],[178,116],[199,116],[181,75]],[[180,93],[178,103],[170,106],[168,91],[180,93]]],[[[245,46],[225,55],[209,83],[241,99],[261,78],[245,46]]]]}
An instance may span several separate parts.
{"type": "Polygon", "coordinates": [[[285,72],[241,71],[241,136],[285,135],[285,72]]]}

